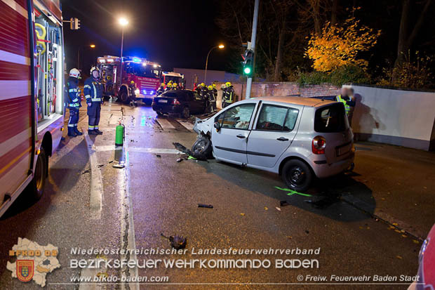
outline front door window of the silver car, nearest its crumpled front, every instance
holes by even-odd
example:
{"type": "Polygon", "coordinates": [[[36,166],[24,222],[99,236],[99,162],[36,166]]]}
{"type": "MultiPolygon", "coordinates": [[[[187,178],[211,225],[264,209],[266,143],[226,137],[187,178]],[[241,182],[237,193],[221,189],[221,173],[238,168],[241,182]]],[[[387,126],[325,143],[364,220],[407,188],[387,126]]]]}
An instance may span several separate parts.
{"type": "MultiPolygon", "coordinates": [[[[247,129],[249,127],[250,118],[255,109],[255,104],[244,104],[225,111],[222,117],[222,128],[237,128],[247,129]]],[[[219,121],[220,121],[219,117],[219,121]]]]}

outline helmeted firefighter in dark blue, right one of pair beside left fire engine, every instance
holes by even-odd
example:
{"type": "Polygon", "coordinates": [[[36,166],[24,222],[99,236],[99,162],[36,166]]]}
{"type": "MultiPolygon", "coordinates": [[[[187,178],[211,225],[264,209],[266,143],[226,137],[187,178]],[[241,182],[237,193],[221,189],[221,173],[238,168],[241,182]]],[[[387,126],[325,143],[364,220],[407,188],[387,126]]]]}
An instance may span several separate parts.
{"type": "Polygon", "coordinates": [[[100,83],[100,70],[91,68],[91,77],[85,81],[84,95],[88,104],[88,134],[101,135],[98,123],[100,122],[102,98],[102,84],[100,83]]]}

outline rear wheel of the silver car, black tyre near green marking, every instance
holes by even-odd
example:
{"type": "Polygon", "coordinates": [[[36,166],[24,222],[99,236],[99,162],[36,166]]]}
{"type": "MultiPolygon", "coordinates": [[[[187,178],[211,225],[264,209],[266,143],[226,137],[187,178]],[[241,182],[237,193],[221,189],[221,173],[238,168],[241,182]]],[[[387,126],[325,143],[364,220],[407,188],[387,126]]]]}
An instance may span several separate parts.
{"type": "Polygon", "coordinates": [[[312,183],[313,173],[305,162],[293,159],[284,164],[282,178],[291,190],[304,192],[312,183]]]}

